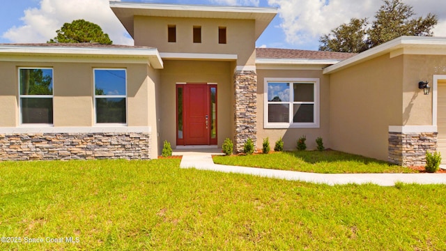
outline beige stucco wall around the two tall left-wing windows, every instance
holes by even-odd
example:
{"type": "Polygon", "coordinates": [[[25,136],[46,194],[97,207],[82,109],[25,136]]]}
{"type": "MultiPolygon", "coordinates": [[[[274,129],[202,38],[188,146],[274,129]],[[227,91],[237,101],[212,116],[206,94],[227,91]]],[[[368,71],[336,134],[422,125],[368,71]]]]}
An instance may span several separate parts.
{"type": "MultiPolygon", "coordinates": [[[[18,59],[19,57],[17,57],[18,59]]],[[[21,58],[20,58],[21,59],[21,58]]],[[[21,59],[22,60],[22,59],[21,59]]],[[[128,126],[151,126],[152,146],[157,149],[157,103],[155,91],[159,70],[147,63],[63,63],[0,61],[0,127],[20,126],[18,68],[53,68],[54,127],[94,125],[93,68],[127,70],[128,126]]],[[[98,125],[100,126],[100,125],[98,125]]],[[[158,151],[152,151],[156,158],[158,151]]]]}

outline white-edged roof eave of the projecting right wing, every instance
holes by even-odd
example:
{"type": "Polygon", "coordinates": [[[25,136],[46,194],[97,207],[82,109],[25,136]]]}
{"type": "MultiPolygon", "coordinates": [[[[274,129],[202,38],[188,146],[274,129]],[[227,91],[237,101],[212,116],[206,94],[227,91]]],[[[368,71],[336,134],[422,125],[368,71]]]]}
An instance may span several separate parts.
{"type": "Polygon", "coordinates": [[[390,53],[391,58],[401,54],[446,55],[446,38],[401,36],[352,56],[334,66],[329,66],[323,70],[323,73],[336,73],[339,70],[355,66],[358,63],[374,59],[387,53],[390,53]]]}

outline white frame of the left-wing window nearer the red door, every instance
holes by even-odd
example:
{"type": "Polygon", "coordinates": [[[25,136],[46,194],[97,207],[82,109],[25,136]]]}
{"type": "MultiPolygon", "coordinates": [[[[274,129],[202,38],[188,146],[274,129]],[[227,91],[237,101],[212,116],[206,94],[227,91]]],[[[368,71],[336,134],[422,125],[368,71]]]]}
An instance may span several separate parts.
{"type": "Polygon", "coordinates": [[[93,68],[93,116],[95,126],[128,126],[128,77],[126,68],[93,68]],[[96,70],[124,70],[125,71],[125,95],[96,95],[96,70]],[[96,98],[125,98],[125,123],[98,123],[96,114],[96,98]]]}

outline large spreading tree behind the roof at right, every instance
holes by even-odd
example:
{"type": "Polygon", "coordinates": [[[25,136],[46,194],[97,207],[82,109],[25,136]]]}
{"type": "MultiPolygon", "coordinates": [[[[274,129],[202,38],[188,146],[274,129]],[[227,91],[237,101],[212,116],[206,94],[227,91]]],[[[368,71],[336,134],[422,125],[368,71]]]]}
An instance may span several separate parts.
{"type": "Polygon", "coordinates": [[[319,39],[319,50],[331,52],[364,52],[400,36],[433,36],[436,15],[417,17],[412,6],[402,0],[383,0],[384,4],[371,23],[367,19],[352,18],[319,39]]]}

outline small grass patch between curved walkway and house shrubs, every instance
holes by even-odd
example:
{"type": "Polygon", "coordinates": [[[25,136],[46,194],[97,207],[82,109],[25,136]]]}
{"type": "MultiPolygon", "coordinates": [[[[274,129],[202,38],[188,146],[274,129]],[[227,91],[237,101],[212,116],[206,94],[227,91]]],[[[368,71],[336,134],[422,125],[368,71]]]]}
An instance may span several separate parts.
{"type": "Polygon", "coordinates": [[[284,151],[256,155],[217,155],[216,164],[321,174],[413,173],[414,169],[339,151],[284,151]]]}

